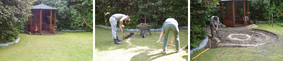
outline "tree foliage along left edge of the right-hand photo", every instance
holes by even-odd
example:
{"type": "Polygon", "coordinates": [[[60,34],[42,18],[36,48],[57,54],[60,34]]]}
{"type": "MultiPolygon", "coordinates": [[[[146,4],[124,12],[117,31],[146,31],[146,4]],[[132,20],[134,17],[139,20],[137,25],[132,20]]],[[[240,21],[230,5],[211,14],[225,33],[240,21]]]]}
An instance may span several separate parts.
{"type": "Polygon", "coordinates": [[[201,39],[206,36],[206,31],[202,29],[203,26],[207,26],[210,17],[217,12],[219,7],[216,7],[218,0],[190,0],[190,47],[198,47],[201,39]]]}

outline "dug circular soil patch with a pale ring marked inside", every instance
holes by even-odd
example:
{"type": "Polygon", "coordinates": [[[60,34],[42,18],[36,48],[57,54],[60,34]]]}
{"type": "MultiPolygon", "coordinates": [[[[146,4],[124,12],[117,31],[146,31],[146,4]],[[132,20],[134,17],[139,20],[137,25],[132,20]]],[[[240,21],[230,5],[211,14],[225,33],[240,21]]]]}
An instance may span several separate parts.
{"type": "MultiPolygon", "coordinates": [[[[211,39],[210,27],[203,29],[207,31],[208,37],[211,39]]],[[[272,32],[261,29],[248,29],[247,26],[219,28],[219,34],[222,36],[221,38],[217,37],[214,30],[214,37],[219,40],[211,40],[211,48],[218,48],[220,44],[221,47],[258,46],[274,43],[278,39],[277,35],[272,32]]],[[[204,48],[209,48],[209,42],[204,48]]]]}

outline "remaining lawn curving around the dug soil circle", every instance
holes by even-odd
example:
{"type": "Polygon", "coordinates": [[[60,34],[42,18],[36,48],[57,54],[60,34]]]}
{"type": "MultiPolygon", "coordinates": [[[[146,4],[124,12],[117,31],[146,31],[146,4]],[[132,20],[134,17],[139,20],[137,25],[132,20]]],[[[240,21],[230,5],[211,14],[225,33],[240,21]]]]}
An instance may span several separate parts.
{"type": "MultiPolygon", "coordinates": [[[[257,25],[257,29],[276,33],[279,39],[275,43],[256,47],[224,47],[222,51],[219,48],[208,49],[195,60],[282,60],[283,27],[276,26],[276,24],[268,26],[268,23],[259,23],[257,25]]],[[[191,55],[190,58],[195,55],[191,55]]]]}

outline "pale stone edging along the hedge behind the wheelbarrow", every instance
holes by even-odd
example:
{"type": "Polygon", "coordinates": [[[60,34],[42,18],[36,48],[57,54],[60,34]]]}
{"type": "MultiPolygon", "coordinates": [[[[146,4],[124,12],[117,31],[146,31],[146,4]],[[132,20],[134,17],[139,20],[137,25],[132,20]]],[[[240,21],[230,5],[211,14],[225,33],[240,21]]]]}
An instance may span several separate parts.
{"type": "MultiPolygon", "coordinates": [[[[111,26],[106,26],[106,25],[95,25],[96,27],[102,27],[102,28],[108,28],[111,29],[111,26]]],[[[117,30],[120,30],[120,28],[116,27],[117,30]]],[[[180,26],[178,27],[179,29],[187,29],[187,26],[180,26]]],[[[125,31],[135,31],[135,32],[139,32],[139,29],[124,29],[125,31]]],[[[147,31],[147,30],[146,30],[147,31]]],[[[150,31],[161,31],[161,28],[152,28],[150,29],[150,31]]]]}

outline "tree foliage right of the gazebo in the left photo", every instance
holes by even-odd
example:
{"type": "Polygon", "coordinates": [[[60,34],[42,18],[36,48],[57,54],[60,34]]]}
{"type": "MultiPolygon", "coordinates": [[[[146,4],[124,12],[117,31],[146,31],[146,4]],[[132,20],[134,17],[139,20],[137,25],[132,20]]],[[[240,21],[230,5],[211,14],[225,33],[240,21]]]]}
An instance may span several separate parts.
{"type": "MultiPolygon", "coordinates": [[[[35,1],[41,3],[41,0],[35,1]]],[[[43,3],[57,8],[56,22],[58,29],[85,29],[92,31],[85,21],[92,26],[92,0],[43,0],[43,3]]],[[[92,26],[93,27],[93,26],[92,26]]]]}

